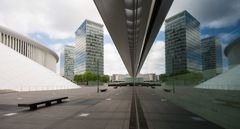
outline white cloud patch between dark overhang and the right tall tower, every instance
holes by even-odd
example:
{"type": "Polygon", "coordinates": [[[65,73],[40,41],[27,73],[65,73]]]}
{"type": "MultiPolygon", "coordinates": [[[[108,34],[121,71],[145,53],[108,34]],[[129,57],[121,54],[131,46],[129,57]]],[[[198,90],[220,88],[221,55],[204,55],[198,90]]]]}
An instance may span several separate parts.
{"type": "Polygon", "coordinates": [[[165,43],[163,41],[153,44],[140,73],[165,73],[165,43]]]}

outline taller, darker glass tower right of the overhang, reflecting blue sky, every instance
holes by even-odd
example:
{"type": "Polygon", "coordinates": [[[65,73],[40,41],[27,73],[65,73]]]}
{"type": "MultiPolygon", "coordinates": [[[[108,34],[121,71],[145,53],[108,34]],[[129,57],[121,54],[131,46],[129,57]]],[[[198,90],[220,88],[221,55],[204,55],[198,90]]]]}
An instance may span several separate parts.
{"type": "Polygon", "coordinates": [[[202,71],[199,21],[183,11],[165,22],[166,74],[202,71]]]}

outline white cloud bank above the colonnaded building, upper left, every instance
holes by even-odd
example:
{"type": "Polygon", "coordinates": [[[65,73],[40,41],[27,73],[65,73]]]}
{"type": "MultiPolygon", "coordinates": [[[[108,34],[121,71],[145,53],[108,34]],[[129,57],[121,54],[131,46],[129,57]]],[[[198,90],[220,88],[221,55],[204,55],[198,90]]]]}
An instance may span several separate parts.
{"type": "Polygon", "coordinates": [[[1,0],[0,24],[25,35],[73,37],[85,19],[103,24],[93,0],[1,0]]]}

